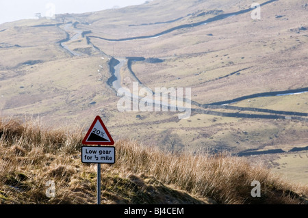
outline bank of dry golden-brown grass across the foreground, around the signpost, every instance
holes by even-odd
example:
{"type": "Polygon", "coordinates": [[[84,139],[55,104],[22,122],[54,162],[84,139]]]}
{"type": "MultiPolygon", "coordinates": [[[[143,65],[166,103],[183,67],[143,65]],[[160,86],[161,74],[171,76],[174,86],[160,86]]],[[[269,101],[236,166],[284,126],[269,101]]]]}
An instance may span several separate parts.
{"type": "MultiPolygon", "coordinates": [[[[81,128],[1,120],[0,203],[94,204],[96,166],[81,163],[83,136],[81,128]]],[[[237,156],[172,154],[127,139],[115,147],[116,163],[103,165],[105,204],[308,204],[308,187],[237,156]],[[261,197],[251,196],[254,180],[261,197]]]]}

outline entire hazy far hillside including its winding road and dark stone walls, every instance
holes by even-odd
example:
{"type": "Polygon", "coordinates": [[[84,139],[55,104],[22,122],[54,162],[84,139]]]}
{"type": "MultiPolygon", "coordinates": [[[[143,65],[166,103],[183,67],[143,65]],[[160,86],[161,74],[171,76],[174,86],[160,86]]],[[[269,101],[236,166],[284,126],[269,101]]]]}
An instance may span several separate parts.
{"type": "Polygon", "coordinates": [[[100,115],[116,141],[227,152],[307,185],[307,2],[258,1],[260,20],[253,2],[154,0],[1,24],[0,115],[74,134],[100,115]],[[119,111],[116,91],[133,83],[189,87],[190,117],[119,111]]]}

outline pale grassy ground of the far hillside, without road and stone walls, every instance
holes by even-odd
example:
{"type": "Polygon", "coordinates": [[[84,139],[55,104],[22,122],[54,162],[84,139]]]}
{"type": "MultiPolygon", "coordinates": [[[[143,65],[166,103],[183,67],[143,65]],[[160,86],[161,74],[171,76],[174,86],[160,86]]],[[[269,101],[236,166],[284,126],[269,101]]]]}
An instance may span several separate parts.
{"type": "MultiPolygon", "coordinates": [[[[188,16],[164,25],[129,25],[170,21],[190,13],[196,15],[216,9],[235,12],[251,5],[250,1],[215,2],[153,1],[148,5],[105,10],[86,16],[75,14],[66,22],[91,23],[77,25],[91,30],[89,36],[123,38],[157,33],[213,15],[188,16]]],[[[307,31],[290,31],[307,27],[304,22],[307,10],[301,7],[304,4],[305,1],[298,0],[265,5],[261,9],[261,21],[252,21],[247,13],[151,40],[105,42],[92,38],[91,41],[108,55],[166,58],[162,64],[138,62],[133,65],[133,70],[151,88],[192,87],[192,100],[200,103],[257,92],[294,89],[304,87],[308,78],[305,64],[307,31]],[[275,18],[275,15],[285,16],[275,18]],[[207,36],[209,33],[213,36],[207,36]],[[177,56],[174,56],[175,53],[177,56]],[[246,67],[251,68],[238,76],[211,81],[246,67]],[[181,79],[177,79],[179,77],[181,79]]],[[[0,29],[6,30],[0,32],[5,42],[0,46],[9,46],[0,49],[1,115],[33,115],[51,126],[84,125],[92,122],[95,115],[102,115],[116,139],[124,135],[163,149],[168,146],[161,143],[161,139],[170,133],[178,135],[185,148],[192,151],[203,148],[232,152],[250,148],[289,150],[294,146],[307,146],[305,122],[198,114],[193,114],[189,120],[177,120],[175,113],[119,113],[116,109],[118,98],[105,85],[110,77],[107,59],[102,60],[101,55],[70,57],[57,43],[66,38],[64,31],[57,27],[31,27],[49,23],[57,21],[29,20],[1,25],[0,29]],[[22,65],[29,60],[42,63],[22,65]],[[92,101],[97,104],[88,105],[92,101]],[[142,115],[142,119],[136,118],[136,115],[142,115]]],[[[71,30],[69,33],[74,34],[71,30]]],[[[85,39],[69,46],[72,49],[87,47],[85,39]]],[[[128,74],[127,70],[123,72],[123,75],[128,74]]],[[[306,103],[307,94],[303,94],[257,98],[237,105],[307,112],[306,103]]]]}

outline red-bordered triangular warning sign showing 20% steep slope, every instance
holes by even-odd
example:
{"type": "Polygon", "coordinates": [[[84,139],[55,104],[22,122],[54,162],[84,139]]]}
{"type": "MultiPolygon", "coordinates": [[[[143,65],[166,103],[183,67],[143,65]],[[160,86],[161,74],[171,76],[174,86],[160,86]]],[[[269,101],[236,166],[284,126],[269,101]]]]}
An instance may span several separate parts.
{"type": "Polygon", "coordinates": [[[94,122],[92,123],[91,127],[84,137],[82,141],[84,145],[101,145],[101,146],[112,146],[114,145],[114,139],[112,139],[110,133],[107,131],[103,120],[98,115],[94,122]]]}

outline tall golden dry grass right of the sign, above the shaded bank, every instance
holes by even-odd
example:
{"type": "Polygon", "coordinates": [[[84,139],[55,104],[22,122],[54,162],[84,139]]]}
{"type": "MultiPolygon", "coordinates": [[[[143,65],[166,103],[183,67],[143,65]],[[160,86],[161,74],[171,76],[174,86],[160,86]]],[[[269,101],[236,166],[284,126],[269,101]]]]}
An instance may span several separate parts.
{"type": "Polygon", "coordinates": [[[196,195],[212,197],[222,204],[298,204],[298,187],[271,174],[257,163],[229,154],[166,154],[156,148],[142,148],[133,141],[118,141],[116,167],[155,176],[168,185],[196,195]],[[251,182],[261,182],[261,198],[251,197],[251,182]]]}

